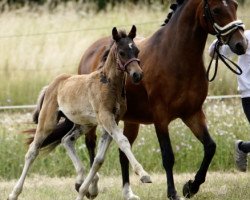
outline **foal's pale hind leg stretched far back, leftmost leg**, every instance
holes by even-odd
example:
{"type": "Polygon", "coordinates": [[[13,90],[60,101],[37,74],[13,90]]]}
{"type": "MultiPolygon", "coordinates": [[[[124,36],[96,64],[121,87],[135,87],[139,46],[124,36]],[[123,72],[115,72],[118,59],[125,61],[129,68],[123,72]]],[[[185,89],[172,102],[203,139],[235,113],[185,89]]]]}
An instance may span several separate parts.
{"type": "Polygon", "coordinates": [[[44,139],[51,133],[57,124],[58,111],[56,104],[44,105],[39,117],[37,130],[34,136],[33,142],[30,144],[29,149],[25,155],[25,163],[22,174],[10,193],[8,200],[17,200],[23,189],[23,184],[27,176],[28,170],[36,159],[39,153],[39,148],[42,145],[44,139]]]}

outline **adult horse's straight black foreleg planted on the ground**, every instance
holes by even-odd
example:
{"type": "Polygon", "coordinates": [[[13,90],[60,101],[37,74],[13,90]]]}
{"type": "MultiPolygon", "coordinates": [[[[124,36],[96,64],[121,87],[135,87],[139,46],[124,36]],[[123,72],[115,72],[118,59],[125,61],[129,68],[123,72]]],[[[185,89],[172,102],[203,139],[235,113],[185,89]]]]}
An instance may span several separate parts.
{"type": "Polygon", "coordinates": [[[161,156],[163,167],[167,174],[167,193],[168,198],[170,200],[179,200],[179,196],[177,195],[175,185],[174,185],[174,177],[173,177],[173,166],[175,162],[173,149],[171,146],[171,141],[169,138],[168,132],[168,123],[163,125],[162,123],[155,123],[155,130],[157,134],[157,138],[161,148],[161,156]]]}

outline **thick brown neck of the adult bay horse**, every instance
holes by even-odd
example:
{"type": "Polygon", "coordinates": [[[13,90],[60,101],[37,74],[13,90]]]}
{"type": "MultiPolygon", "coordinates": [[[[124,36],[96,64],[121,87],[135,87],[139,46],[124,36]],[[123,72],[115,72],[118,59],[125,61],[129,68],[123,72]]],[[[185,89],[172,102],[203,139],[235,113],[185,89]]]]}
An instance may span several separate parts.
{"type": "Polygon", "coordinates": [[[180,55],[186,54],[202,59],[207,40],[207,32],[200,25],[197,9],[203,12],[201,1],[186,0],[182,7],[176,10],[169,23],[152,37],[158,38],[159,50],[172,51],[178,49],[180,55]]]}

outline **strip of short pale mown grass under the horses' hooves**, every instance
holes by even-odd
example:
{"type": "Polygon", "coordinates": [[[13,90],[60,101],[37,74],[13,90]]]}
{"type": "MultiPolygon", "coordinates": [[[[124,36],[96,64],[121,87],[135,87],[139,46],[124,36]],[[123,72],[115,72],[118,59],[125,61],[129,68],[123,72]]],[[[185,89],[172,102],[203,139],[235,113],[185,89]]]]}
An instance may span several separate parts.
{"type": "MultiPolygon", "coordinates": [[[[194,174],[175,175],[176,187],[182,195],[183,184],[192,179],[194,174]]],[[[142,184],[137,176],[132,176],[133,191],[142,200],[166,200],[166,179],[164,174],[152,174],[152,184],[142,184]]],[[[0,199],[6,199],[14,181],[0,180],[0,199]]],[[[207,181],[193,200],[249,200],[250,174],[239,172],[210,172],[207,181]]],[[[121,177],[101,176],[99,182],[100,193],[96,200],[122,200],[121,177]]],[[[69,200],[74,199],[73,178],[50,178],[33,176],[27,179],[20,200],[69,200]]]]}

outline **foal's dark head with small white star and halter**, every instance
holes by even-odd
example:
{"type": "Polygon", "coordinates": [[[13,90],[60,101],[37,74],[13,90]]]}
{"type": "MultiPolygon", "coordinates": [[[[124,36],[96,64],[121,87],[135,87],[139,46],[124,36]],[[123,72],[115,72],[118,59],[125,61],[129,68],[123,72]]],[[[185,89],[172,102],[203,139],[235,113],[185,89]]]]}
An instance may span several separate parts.
{"type": "Polygon", "coordinates": [[[126,71],[130,75],[133,83],[139,83],[142,79],[143,72],[139,66],[139,49],[133,41],[136,36],[136,27],[133,25],[128,35],[122,31],[118,32],[114,27],[112,36],[117,48],[118,69],[126,71]]]}

